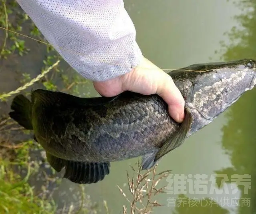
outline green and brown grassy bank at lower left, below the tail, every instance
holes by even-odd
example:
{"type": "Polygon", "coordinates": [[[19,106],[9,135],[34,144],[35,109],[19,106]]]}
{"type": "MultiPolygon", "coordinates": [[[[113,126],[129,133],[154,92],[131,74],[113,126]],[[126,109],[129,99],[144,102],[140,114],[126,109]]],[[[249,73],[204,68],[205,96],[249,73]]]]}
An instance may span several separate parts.
{"type": "Polygon", "coordinates": [[[44,200],[35,195],[28,182],[30,175],[36,172],[36,167],[32,168],[29,162],[29,150],[38,148],[38,145],[32,140],[11,143],[10,132],[22,132],[22,129],[10,118],[2,118],[0,120],[0,213],[55,213],[56,206],[53,200],[51,198],[44,200]],[[17,169],[21,168],[26,169],[25,176],[18,173],[21,170],[17,169]]]}

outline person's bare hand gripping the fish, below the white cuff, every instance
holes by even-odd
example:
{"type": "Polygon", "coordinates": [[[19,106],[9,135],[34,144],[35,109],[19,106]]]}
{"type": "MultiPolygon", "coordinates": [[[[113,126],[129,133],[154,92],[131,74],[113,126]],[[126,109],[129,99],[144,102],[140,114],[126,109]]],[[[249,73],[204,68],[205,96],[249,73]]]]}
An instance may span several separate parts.
{"type": "Polygon", "coordinates": [[[93,85],[105,97],[116,96],[124,91],[158,94],[168,104],[170,116],[177,122],[183,121],[185,102],[181,92],[168,74],[146,58],[131,72],[111,80],[95,81],[93,85]]]}

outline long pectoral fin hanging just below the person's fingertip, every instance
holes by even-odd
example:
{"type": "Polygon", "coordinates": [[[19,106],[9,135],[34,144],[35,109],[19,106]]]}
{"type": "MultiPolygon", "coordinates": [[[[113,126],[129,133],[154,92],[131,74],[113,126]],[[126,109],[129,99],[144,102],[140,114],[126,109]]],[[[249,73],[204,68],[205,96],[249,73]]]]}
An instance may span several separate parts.
{"type": "Polygon", "coordinates": [[[174,132],[171,135],[171,137],[166,141],[166,143],[163,144],[163,146],[155,155],[154,161],[157,161],[159,158],[163,157],[165,154],[177,148],[184,142],[187,132],[189,132],[189,129],[191,127],[192,120],[193,118],[191,113],[185,109],[185,118],[181,126],[179,127],[179,129],[177,129],[176,132],[174,132]]]}

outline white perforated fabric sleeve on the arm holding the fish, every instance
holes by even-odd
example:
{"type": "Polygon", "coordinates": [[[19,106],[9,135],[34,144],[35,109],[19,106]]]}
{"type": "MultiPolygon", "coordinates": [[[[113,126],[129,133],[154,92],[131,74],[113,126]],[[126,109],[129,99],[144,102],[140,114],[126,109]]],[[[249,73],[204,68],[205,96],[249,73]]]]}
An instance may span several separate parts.
{"type": "Polygon", "coordinates": [[[103,81],[141,59],[123,0],[17,0],[55,50],[82,76],[103,81]]]}

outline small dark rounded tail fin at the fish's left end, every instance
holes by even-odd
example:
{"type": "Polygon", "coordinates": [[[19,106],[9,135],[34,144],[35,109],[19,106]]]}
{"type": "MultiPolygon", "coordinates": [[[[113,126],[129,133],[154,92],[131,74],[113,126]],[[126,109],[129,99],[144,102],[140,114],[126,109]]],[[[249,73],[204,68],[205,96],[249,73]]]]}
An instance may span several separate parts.
{"type": "Polygon", "coordinates": [[[31,120],[31,111],[32,103],[23,96],[19,94],[14,97],[11,104],[11,109],[13,112],[9,113],[9,116],[18,122],[20,126],[23,126],[25,129],[32,130],[32,120],[31,120]]]}

